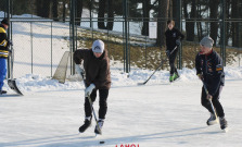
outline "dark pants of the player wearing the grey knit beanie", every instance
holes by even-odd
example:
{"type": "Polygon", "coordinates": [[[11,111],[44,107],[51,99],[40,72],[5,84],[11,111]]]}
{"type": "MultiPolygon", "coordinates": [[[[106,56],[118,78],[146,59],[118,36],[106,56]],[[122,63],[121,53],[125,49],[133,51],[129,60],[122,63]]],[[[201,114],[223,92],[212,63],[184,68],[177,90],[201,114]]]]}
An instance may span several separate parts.
{"type": "MultiPolygon", "coordinates": [[[[219,102],[219,96],[220,96],[221,89],[222,89],[222,86],[220,86],[220,88],[218,89],[218,91],[215,94],[215,96],[212,99],[212,102],[214,105],[214,109],[217,112],[217,115],[219,118],[225,117],[222,106],[219,102]]],[[[201,102],[202,102],[202,106],[205,107],[211,113],[214,113],[213,110],[212,110],[209,100],[206,99],[206,91],[204,90],[203,87],[202,87],[202,98],[201,98],[201,102]]]]}

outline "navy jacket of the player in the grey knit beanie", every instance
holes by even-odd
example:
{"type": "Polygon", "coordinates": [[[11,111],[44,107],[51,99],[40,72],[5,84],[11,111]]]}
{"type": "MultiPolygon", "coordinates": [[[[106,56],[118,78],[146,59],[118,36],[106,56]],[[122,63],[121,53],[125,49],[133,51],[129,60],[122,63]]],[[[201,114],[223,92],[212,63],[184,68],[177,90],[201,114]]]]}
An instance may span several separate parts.
{"type": "Polygon", "coordinates": [[[225,85],[222,60],[216,51],[213,50],[207,56],[198,53],[195,69],[196,74],[203,75],[209,95],[214,96],[225,85]]]}

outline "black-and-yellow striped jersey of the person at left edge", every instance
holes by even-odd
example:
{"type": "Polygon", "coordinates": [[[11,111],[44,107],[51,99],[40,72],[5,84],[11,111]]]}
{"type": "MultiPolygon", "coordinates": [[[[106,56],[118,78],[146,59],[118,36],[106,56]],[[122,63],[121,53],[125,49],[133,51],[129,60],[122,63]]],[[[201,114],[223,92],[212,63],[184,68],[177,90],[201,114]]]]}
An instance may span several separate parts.
{"type": "Polygon", "coordinates": [[[0,58],[7,59],[9,56],[9,41],[5,28],[0,24],[0,58]]]}

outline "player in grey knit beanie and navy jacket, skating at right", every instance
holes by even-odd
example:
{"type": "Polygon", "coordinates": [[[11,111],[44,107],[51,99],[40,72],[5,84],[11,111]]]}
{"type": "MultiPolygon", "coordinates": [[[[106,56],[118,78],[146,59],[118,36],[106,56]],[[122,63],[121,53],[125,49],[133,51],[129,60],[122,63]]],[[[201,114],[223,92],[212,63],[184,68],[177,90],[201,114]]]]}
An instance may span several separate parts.
{"type": "Polygon", "coordinates": [[[225,73],[222,66],[222,60],[218,53],[213,50],[214,40],[211,37],[204,37],[200,41],[201,51],[195,57],[195,69],[196,75],[203,81],[205,87],[208,90],[206,94],[204,86],[202,87],[202,106],[211,112],[211,118],[207,120],[207,125],[218,123],[218,119],[213,112],[209,100],[215,108],[215,111],[219,118],[220,128],[225,130],[228,127],[225,119],[225,112],[221,103],[219,102],[220,93],[225,85],[225,73]]]}

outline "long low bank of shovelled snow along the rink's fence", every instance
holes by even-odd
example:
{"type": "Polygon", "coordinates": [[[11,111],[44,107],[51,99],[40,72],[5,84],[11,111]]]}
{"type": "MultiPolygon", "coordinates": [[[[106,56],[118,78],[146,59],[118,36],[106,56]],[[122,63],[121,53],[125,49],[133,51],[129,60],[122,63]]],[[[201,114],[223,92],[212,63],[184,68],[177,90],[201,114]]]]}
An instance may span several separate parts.
{"type": "MultiPolygon", "coordinates": [[[[112,87],[137,86],[138,83],[147,81],[154,71],[150,70],[132,70],[130,73],[124,73],[119,70],[112,70],[112,87]]],[[[195,75],[195,70],[183,68],[179,70],[180,79],[178,83],[196,83],[199,78],[195,75]]],[[[226,79],[242,78],[242,68],[225,68],[226,79]]],[[[169,71],[157,71],[147,85],[169,84],[169,71]]],[[[26,91],[42,91],[42,90],[67,90],[67,89],[84,89],[82,82],[66,82],[61,84],[55,79],[42,75],[26,74],[16,79],[18,88],[26,91]]],[[[9,89],[5,85],[3,88],[9,89]]]]}

